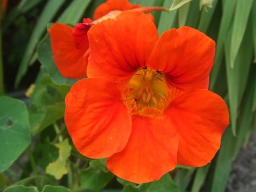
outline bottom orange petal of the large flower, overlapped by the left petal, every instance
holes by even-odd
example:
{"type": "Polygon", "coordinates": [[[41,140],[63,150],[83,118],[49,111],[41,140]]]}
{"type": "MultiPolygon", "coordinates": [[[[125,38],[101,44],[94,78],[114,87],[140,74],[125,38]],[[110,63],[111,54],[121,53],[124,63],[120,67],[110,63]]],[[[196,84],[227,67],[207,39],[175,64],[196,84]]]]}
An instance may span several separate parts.
{"type": "Polygon", "coordinates": [[[133,116],[126,147],[107,160],[108,169],[124,180],[159,180],[176,166],[177,134],[163,119],[133,116]]]}

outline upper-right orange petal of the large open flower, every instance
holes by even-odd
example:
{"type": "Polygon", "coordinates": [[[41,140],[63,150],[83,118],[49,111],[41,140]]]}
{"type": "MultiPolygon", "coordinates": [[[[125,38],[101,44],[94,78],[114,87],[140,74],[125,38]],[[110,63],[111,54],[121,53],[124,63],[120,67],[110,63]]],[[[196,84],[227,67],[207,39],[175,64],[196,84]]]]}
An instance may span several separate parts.
{"type": "Polygon", "coordinates": [[[168,74],[179,89],[208,89],[215,43],[191,27],[171,29],[160,36],[148,66],[168,74]]]}

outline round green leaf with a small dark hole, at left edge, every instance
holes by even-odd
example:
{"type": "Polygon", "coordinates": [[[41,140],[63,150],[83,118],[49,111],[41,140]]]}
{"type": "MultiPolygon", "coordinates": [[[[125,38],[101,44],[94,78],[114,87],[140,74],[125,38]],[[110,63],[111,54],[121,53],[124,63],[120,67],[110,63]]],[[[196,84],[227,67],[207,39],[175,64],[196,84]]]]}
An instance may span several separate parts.
{"type": "Polygon", "coordinates": [[[9,168],[30,144],[26,105],[18,99],[0,97],[0,172],[9,168]]]}

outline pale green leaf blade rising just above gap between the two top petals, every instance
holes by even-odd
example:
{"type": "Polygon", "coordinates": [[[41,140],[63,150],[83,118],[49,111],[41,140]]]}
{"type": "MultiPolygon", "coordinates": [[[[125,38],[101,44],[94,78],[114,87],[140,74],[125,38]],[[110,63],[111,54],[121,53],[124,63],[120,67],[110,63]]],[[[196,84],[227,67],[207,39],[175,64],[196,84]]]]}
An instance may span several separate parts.
{"type": "MultiPolygon", "coordinates": [[[[167,7],[171,4],[172,0],[165,0],[163,7],[167,7]]],[[[164,31],[174,27],[177,10],[171,12],[161,12],[158,23],[158,34],[161,35],[164,31]]]]}

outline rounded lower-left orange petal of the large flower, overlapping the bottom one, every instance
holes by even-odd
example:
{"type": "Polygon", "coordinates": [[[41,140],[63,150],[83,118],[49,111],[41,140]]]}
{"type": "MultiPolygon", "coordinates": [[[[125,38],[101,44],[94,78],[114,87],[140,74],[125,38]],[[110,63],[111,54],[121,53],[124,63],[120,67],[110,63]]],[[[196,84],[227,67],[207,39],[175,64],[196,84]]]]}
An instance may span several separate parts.
{"type": "Polygon", "coordinates": [[[65,104],[65,123],[82,155],[105,158],[125,147],[131,116],[113,82],[100,78],[80,80],[72,86],[65,104]]]}

